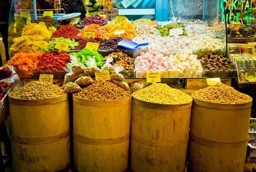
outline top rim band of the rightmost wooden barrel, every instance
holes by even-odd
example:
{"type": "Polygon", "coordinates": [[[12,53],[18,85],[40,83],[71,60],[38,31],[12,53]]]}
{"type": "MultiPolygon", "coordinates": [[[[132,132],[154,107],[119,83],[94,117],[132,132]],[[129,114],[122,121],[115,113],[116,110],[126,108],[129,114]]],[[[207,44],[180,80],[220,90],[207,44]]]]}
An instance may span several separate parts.
{"type": "Polygon", "coordinates": [[[199,106],[210,108],[210,109],[225,109],[225,110],[247,109],[253,105],[253,101],[250,101],[248,103],[242,103],[242,104],[213,103],[213,102],[208,102],[208,101],[195,98],[193,96],[193,93],[191,95],[193,98],[193,103],[199,106]]]}

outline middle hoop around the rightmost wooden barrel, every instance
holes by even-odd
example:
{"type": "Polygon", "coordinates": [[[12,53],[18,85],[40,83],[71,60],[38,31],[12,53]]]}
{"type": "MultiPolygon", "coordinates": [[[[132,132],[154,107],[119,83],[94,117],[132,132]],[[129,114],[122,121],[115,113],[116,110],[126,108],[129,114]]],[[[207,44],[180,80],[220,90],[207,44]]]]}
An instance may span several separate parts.
{"type": "Polygon", "coordinates": [[[224,142],[215,142],[211,140],[206,140],[204,138],[198,138],[197,136],[193,135],[189,132],[189,138],[191,140],[195,140],[196,143],[200,144],[201,146],[209,147],[209,148],[218,148],[218,149],[237,149],[247,145],[249,137],[241,142],[234,142],[234,143],[224,143],[224,142]]]}

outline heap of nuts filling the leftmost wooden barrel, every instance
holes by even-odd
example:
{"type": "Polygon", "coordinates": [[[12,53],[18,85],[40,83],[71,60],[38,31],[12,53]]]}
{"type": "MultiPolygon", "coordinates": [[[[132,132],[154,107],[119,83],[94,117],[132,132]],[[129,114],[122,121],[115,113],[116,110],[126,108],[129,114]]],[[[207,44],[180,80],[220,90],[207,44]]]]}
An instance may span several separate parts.
{"type": "Polygon", "coordinates": [[[24,100],[47,99],[62,95],[65,95],[65,93],[61,87],[44,81],[32,81],[26,86],[14,89],[9,93],[12,98],[24,100]]]}

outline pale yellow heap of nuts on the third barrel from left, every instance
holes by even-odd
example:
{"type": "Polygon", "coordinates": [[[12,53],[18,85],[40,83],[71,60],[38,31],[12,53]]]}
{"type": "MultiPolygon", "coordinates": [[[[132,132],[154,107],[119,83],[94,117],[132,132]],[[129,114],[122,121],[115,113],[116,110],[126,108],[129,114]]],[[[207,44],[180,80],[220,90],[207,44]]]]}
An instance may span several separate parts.
{"type": "Polygon", "coordinates": [[[183,104],[192,101],[192,97],[177,89],[172,89],[165,83],[154,83],[134,93],[134,97],[160,104],[183,104]]]}

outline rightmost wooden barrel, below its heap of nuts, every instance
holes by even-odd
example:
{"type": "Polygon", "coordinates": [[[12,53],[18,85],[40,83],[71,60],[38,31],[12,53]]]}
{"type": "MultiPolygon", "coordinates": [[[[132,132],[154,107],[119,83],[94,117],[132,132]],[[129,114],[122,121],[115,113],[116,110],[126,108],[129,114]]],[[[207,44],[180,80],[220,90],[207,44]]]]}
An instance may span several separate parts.
{"type": "Polygon", "coordinates": [[[244,172],[251,106],[252,102],[220,104],[193,97],[191,172],[244,172]]]}

